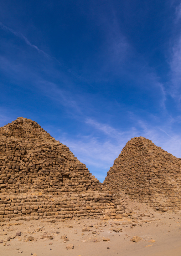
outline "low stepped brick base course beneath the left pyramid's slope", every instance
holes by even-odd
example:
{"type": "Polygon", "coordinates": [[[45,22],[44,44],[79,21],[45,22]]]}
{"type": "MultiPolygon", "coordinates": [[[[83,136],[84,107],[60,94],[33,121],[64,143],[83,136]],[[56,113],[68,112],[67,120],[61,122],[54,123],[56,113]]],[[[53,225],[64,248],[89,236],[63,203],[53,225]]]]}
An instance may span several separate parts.
{"type": "Polygon", "coordinates": [[[86,193],[64,196],[16,194],[0,196],[0,221],[41,218],[122,218],[125,208],[110,194],[86,193]]]}

